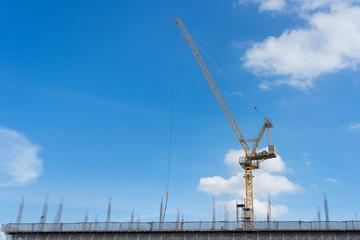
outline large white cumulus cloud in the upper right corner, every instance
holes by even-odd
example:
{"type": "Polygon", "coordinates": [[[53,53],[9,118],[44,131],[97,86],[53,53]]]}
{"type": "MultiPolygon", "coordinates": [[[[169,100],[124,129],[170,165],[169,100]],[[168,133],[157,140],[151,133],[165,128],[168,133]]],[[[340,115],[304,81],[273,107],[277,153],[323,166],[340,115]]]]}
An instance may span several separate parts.
{"type": "MultiPolygon", "coordinates": [[[[267,2],[270,1],[260,1],[259,9],[264,10],[267,2]]],[[[289,2],[287,9],[296,9],[307,22],[306,26],[287,29],[280,36],[254,43],[242,58],[244,67],[271,79],[260,84],[262,89],[287,84],[303,90],[314,86],[315,79],[321,75],[355,69],[360,63],[358,3],[350,0],[289,2]]]]}

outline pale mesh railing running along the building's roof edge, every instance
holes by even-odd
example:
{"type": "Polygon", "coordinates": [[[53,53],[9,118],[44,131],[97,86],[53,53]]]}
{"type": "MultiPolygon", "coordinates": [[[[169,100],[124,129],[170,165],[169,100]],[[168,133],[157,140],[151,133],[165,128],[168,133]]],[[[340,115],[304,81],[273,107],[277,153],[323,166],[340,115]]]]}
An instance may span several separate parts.
{"type": "Polygon", "coordinates": [[[271,222],[92,222],[9,223],[7,234],[25,232],[129,232],[129,231],[360,231],[360,221],[271,221],[271,222]]]}

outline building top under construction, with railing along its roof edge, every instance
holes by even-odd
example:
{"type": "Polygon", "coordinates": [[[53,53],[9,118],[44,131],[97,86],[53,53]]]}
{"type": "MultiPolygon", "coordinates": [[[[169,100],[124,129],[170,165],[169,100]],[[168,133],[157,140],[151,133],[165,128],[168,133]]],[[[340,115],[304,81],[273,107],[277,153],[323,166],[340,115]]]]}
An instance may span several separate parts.
{"type": "Polygon", "coordinates": [[[360,222],[105,222],[2,226],[7,240],[360,240],[360,222]]]}

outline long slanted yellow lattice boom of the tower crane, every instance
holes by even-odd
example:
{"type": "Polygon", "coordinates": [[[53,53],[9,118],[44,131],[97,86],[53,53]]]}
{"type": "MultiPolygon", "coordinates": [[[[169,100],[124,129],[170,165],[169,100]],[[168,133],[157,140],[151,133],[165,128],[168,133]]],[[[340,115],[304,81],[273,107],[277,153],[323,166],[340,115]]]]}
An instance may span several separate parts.
{"type": "Polygon", "coordinates": [[[218,100],[222,110],[224,111],[224,113],[226,115],[226,118],[228,119],[232,129],[234,130],[234,132],[236,134],[236,137],[238,138],[241,146],[243,147],[246,156],[249,156],[250,155],[250,148],[249,148],[247,142],[245,141],[245,138],[244,138],[243,134],[241,133],[238,125],[236,124],[235,119],[231,115],[230,110],[229,110],[228,106],[226,105],[223,97],[221,96],[221,93],[220,93],[219,89],[217,88],[213,78],[211,77],[209,70],[207,69],[204,61],[202,60],[202,58],[200,56],[200,53],[199,53],[199,51],[197,50],[197,48],[195,46],[194,41],[192,40],[189,32],[186,30],[186,27],[185,27],[184,23],[179,18],[175,19],[174,22],[179,24],[179,26],[181,28],[181,31],[183,32],[183,34],[184,34],[184,36],[185,36],[185,38],[186,38],[186,40],[187,40],[187,42],[188,42],[188,44],[189,44],[189,46],[191,48],[196,60],[197,60],[202,72],[205,75],[206,80],[208,81],[212,91],[214,92],[214,94],[216,96],[216,99],[218,100]]]}

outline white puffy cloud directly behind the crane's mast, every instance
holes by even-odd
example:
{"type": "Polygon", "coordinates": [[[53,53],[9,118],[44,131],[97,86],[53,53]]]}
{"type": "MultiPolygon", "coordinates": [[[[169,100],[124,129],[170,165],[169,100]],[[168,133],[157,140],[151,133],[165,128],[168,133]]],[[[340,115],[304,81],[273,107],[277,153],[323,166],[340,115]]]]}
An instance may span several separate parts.
{"type": "MultiPolygon", "coordinates": [[[[264,149],[261,149],[262,151],[264,149]]],[[[239,157],[245,156],[244,150],[230,149],[224,158],[224,163],[231,169],[230,178],[221,176],[203,177],[199,181],[198,190],[219,196],[222,194],[230,195],[233,199],[243,199],[245,193],[244,170],[239,165],[239,157]]],[[[254,187],[254,208],[255,217],[266,217],[268,195],[276,197],[279,194],[295,193],[300,190],[300,186],[288,180],[285,176],[279,175],[286,172],[286,166],[280,156],[268,159],[261,164],[261,168],[253,172],[255,180],[254,187]]],[[[223,201],[228,205],[228,209],[235,211],[235,201],[223,201]]],[[[288,209],[284,205],[272,205],[274,217],[287,213],[288,209]]]]}

